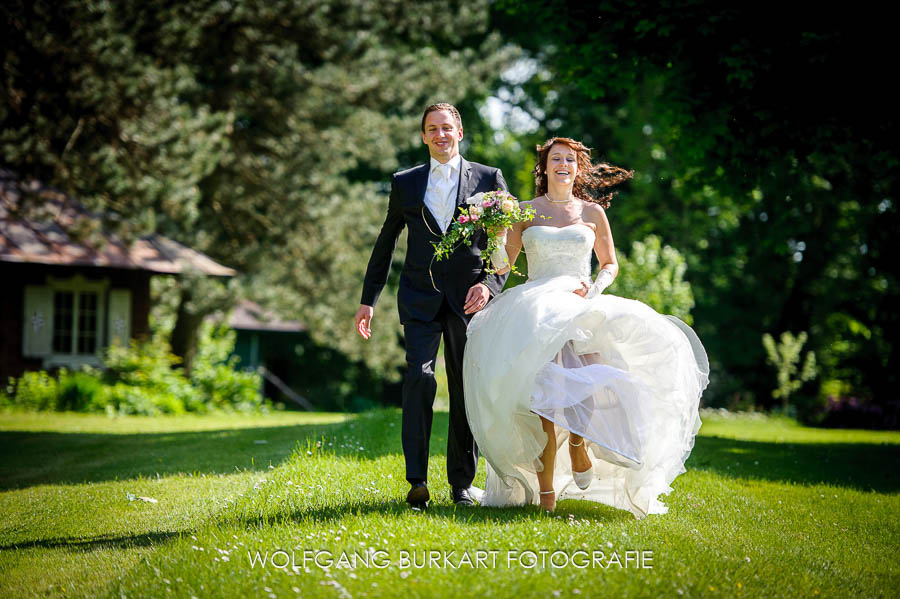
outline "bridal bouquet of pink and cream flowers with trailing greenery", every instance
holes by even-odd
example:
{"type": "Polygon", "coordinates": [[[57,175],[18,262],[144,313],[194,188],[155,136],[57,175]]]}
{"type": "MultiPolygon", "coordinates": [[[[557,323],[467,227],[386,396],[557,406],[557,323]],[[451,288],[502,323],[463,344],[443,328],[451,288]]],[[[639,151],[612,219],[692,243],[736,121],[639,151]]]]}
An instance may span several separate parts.
{"type": "MultiPolygon", "coordinates": [[[[505,191],[488,191],[476,193],[466,199],[468,208],[461,208],[459,215],[434,246],[434,256],[437,260],[448,258],[460,243],[472,245],[472,236],[478,229],[484,229],[488,233],[487,249],[481,251],[481,258],[487,263],[489,273],[495,273],[491,265],[491,254],[500,248],[505,242],[501,238],[503,232],[514,223],[529,221],[534,218],[534,208],[519,206],[519,201],[505,191]]],[[[518,274],[516,267],[509,265],[510,271],[518,274]]]]}

